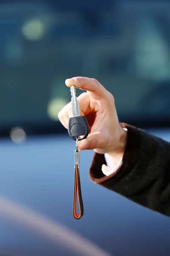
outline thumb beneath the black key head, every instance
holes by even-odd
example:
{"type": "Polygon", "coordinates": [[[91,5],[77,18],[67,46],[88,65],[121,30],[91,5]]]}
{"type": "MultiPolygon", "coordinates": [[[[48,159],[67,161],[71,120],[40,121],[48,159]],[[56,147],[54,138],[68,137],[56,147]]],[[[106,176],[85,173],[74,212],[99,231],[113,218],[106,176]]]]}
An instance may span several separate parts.
{"type": "Polygon", "coordinates": [[[85,140],[79,141],[79,150],[100,148],[102,146],[101,139],[102,136],[99,131],[89,134],[85,140]]]}

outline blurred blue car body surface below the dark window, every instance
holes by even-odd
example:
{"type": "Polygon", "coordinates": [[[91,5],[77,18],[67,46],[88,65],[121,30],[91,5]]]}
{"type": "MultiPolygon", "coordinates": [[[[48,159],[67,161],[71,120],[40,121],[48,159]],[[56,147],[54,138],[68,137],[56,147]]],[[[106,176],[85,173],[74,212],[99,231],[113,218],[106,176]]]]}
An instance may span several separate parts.
{"type": "MultiPolygon", "coordinates": [[[[168,129],[149,132],[170,139],[168,129]]],[[[92,150],[80,154],[84,215],[74,219],[74,150],[68,135],[28,137],[23,145],[0,141],[0,252],[143,256],[170,251],[169,218],[91,182],[92,150]]]]}

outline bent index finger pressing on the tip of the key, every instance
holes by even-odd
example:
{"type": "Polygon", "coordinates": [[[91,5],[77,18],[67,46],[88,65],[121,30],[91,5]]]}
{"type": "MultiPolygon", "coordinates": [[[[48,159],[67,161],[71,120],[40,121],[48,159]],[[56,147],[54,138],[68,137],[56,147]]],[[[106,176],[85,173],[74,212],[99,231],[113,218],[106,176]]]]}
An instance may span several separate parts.
{"type": "Polygon", "coordinates": [[[75,88],[88,91],[90,96],[94,99],[106,98],[108,94],[108,91],[102,86],[102,84],[94,78],[77,76],[71,79],[66,79],[65,84],[68,87],[74,85],[75,88]]]}

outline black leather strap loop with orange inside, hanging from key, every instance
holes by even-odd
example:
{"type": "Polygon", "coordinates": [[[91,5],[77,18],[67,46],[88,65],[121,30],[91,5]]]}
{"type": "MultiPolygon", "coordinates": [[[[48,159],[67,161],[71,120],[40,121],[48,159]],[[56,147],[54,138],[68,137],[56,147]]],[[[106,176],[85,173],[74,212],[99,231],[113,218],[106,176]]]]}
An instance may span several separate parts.
{"type": "Polygon", "coordinates": [[[83,209],[83,202],[82,202],[82,192],[81,192],[81,185],[80,185],[80,175],[79,175],[79,168],[76,165],[75,168],[75,175],[74,175],[74,202],[73,202],[73,215],[75,219],[80,219],[84,213],[83,209]],[[78,194],[78,202],[79,202],[79,215],[77,214],[76,204],[77,204],[77,194],[78,194]]]}

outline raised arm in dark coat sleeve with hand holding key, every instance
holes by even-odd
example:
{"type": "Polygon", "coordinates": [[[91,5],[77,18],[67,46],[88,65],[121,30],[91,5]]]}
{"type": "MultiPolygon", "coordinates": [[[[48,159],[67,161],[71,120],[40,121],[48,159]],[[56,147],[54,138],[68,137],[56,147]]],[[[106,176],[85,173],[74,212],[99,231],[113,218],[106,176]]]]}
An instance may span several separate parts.
{"type": "MultiPolygon", "coordinates": [[[[85,90],[77,99],[90,134],[79,141],[79,150],[94,149],[91,180],[134,202],[170,216],[170,143],[126,124],[119,124],[114,97],[96,79],[66,79],[68,87],[85,90]],[[125,131],[122,127],[127,128],[125,131]],[[105,176],[105,154],[122,165],[105,176]]],[[[60,122],[68,128],[71,103],[59,112],[60,122]]]]}

